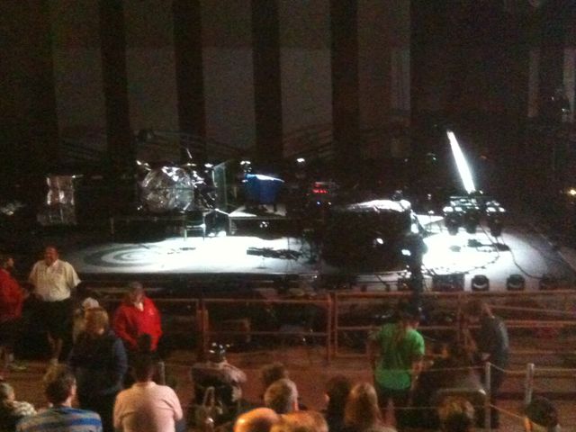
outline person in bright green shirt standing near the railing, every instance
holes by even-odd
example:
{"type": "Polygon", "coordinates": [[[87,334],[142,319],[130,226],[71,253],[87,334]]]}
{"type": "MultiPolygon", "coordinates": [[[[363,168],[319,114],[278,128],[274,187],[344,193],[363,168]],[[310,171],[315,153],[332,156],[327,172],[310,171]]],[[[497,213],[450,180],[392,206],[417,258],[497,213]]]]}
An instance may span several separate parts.
{"type": "Polygon", "coordinates": [[[424,357],[424,338],[418,331],[420,308],[413,303],[402,303],[397,322],[384,324],[368,340],[368,356],[374,371],[374,387],[378,401],[385,408],[389,400],[394,405],[398,428],[409,424],[410,404],[424,357]]]}

